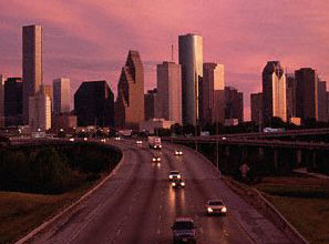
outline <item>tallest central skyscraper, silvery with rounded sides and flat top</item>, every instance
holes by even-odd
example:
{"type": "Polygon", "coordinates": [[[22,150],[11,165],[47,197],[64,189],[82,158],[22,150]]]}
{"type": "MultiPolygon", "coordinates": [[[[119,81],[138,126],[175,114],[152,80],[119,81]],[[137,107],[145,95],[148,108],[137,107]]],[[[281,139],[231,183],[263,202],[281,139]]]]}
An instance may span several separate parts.
{"type": "Polygon", "coordinates": [[[199,82],[203,78],[203,38],[196,34],[178,37],[182,65],[183,123],[197,124],[199,120],[199,82]]]}

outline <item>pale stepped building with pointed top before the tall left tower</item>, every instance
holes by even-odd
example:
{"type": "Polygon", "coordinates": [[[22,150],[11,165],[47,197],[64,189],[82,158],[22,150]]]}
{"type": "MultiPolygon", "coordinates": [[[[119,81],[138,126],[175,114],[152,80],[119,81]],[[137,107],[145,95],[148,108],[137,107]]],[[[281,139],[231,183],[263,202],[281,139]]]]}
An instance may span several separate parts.
{"type": "Polygon", "coordinates": [[[51,100],[43,85],[34,96],[29,98],[29,126],[32,131],[51,129],[51,100]]]}

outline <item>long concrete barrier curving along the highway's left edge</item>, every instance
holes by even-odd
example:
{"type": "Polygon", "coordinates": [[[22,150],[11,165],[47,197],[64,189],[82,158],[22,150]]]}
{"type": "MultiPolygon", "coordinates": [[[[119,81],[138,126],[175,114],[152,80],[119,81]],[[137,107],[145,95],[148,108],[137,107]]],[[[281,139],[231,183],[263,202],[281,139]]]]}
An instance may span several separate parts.
{"type": "MultiPolygon", "coordinates": [[[[104,144],[102,144],[104,146],[104,144]]],[[[121,153],[121,160],[120,162],[124,161],[124,153],[123,151],[115,145],[107,145],[111,148],[111,150],[116,151],[117,153],[121,153]]],[[[84,195],[82,195],[79,200],[76,200],[71,205],[66,206],[62,211],[60,211],[58,214],[52,216],[50,220],[45,221],[43,224],[31,231],[29,234],[27,234],[24,237],[17,241],[14,244],[28,244],[34,236],[50,227],[52,224],[54,224],[56,221],[59,221],[61,217],[66,216],[68,214],[72,213],[74,209],[81,204],[83,201],[88,200],[96,190],[99,190],[112,175],[116,173],[116,171],[120,169],[120,162],[116,164],[116,166],[110,172],[107,176],[105,176],[99,184],[96,184],[93,189],[88,191],[84,195]]]]}

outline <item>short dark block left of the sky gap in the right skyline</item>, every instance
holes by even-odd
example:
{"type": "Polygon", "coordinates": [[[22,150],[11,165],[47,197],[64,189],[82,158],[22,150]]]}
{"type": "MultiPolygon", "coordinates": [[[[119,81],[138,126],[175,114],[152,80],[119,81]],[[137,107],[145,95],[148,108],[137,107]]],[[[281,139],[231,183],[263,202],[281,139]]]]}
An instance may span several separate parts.
{"type": "Polygon", "coordinates": [[[226,87],[225,90],[225,119],[237,119],[244,122],[244,93],[237,89],[226,87]]]}

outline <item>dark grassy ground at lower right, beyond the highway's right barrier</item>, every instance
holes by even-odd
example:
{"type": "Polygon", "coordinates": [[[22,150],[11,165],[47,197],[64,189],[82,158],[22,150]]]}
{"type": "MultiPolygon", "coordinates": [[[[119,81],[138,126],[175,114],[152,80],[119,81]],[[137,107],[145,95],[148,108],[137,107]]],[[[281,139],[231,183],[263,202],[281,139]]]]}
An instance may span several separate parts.
{"type": "Polygon", "coordinates": [[[266,177],[256,185],[311,244],[329,243],[329,181],[266,177]]]}

